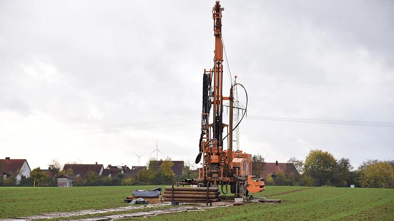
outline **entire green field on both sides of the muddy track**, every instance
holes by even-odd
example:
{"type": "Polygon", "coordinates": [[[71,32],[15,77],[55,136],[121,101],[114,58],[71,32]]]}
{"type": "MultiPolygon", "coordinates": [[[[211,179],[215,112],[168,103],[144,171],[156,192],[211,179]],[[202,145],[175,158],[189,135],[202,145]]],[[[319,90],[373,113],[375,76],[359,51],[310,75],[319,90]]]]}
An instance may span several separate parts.
{"type": "MultiPolygon", "coordinates": [[[[0,218],[125,206],[135,189],[153,186],[0,188],[0,218]]],[[[281,204],[248,204],[163,214],[151,220],[394,220],[394,189],[267,187],[257,195],[281,204]]],[[[135,219],[133,219],[135,220],[135,219]]]]}

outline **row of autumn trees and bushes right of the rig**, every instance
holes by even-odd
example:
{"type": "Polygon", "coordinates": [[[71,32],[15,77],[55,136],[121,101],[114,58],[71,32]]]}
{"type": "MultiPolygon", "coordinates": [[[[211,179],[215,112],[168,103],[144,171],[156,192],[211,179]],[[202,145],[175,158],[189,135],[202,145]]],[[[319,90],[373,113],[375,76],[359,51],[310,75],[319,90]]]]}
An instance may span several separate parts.
{"type": "MultiPolygon", "coordinates": [[[[252,158],[252,172],[255,175],[264,173],[265,162],[260,155],[252,158]]],[[[357,169],[350,160],[335,159],[331,153],[323,150],[311,150],[305,161],[290,158],[299,174],[285,171],[267,174],[265,183],[286,186],[336,186],[336,187],[368,187],[394,188],[394,161],[368,160],[357,169]]]]}

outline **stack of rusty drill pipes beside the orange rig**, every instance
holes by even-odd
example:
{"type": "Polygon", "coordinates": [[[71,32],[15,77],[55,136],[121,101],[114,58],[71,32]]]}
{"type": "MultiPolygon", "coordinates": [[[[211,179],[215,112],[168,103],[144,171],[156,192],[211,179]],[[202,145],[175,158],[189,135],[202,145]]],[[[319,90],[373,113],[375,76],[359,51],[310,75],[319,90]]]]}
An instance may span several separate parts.
{"type": "Polygon", "coordinates": [[[163,201],[218,202],[219,188],[215,187],[165,187],[163,201]],[[172,200],[171,200],[172,199],[172,200]]]}

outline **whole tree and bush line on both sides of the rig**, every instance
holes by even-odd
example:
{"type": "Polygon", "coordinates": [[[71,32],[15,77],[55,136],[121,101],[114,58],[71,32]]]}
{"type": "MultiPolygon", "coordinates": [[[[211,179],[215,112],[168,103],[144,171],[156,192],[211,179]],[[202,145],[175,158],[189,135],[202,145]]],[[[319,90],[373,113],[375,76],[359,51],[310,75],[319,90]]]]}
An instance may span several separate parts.
{"type": "MultiPolygon", "coordinates": [[[[357,169],[350,164],[349,159],[335,159],[331,153],[323,150],[311,150],[305,160],[291,158],[288,163],[292,163],[299,174],[280,171],[265,175],[267,186],[336,186],[349,187],[374,187],[374,188],[394,188],[394,161],[368,160],[363,162],[357,169]]],[[[51,174],[48,175],[40,167],[34,168],[30,172],[30,177],[22,177],[17,183],[16,175],[11,174],[7,179],[0,179],[0,186],[57,186],[56,177],[67,174],[73,176],[72,169],[61,170],[61,166],[56,160],[48,165],[51,174]]],[[[96,172],[89,171],[84,178],[75,178],[74,186],[119,186],[119,185],[163,185],[171,184],[173,181],[197,178],[198,172],[190,169],[187,163],[183,174],[175,176],[171,167],[173,163],[170,159],[164,160],[161,164],[157,161],[150,161],[148,169],[141,170],[134,178],[125,173],[118,173],[114,176],[101,176],[96,172]]],[[[252,157],[252,173],[261,176],[264,173],[264,158],[259,154],[252,157]]]]}

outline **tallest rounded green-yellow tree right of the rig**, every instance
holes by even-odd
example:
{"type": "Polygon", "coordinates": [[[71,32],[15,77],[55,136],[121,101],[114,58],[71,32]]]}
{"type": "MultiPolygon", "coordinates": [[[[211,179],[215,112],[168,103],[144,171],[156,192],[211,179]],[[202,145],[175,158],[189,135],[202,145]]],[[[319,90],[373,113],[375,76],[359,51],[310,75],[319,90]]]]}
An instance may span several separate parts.
{"type": "Polygon", "coordinates": [[[331,185],[337,160],[331,153],[323,150],[311,150],[305,159],[305,174],[314,180],[314,186],[331,185]]]}

